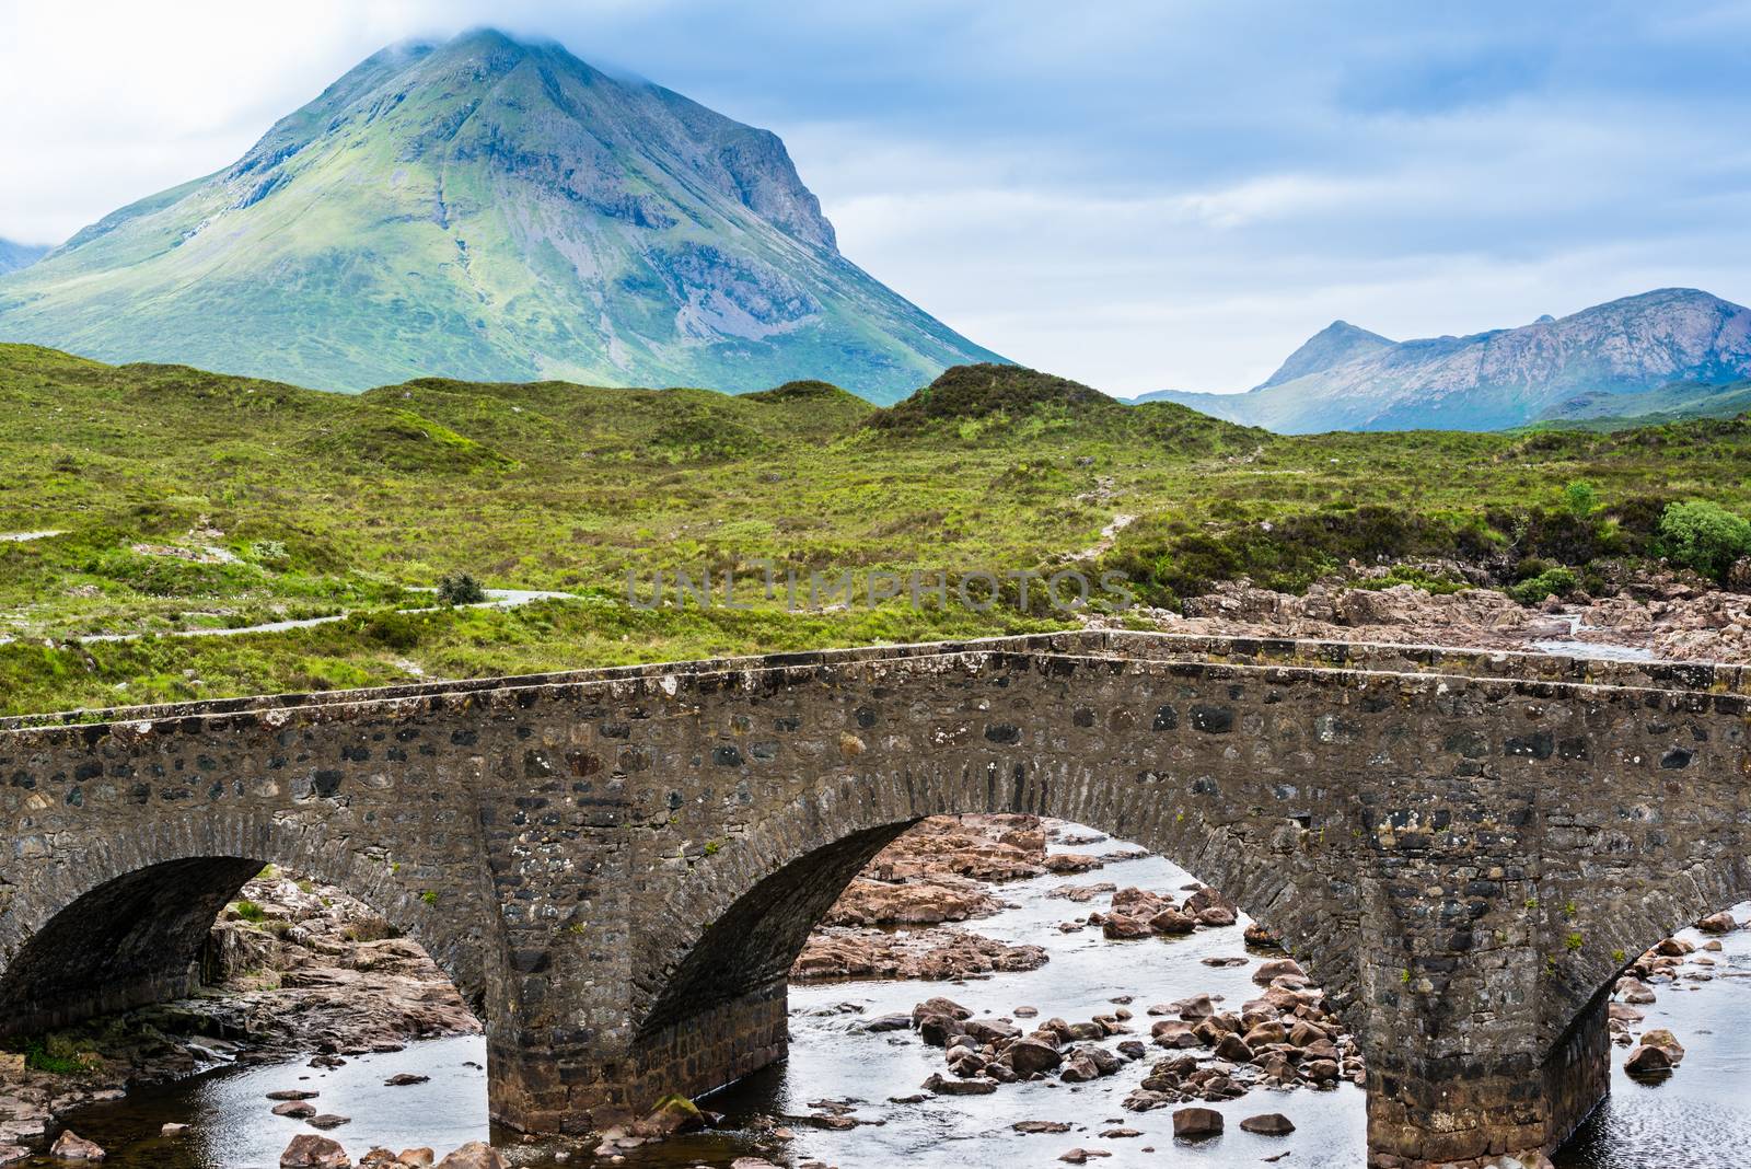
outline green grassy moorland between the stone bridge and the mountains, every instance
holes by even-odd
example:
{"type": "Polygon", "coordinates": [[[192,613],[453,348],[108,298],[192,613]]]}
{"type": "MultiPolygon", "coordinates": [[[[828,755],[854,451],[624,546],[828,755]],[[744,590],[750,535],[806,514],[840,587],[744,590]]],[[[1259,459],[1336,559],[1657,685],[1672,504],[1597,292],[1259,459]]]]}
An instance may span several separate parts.
{"type": "Polygon", "coordinates": [[[1065,625],[1016,590],[981,614],[784,612],[756,562],[837,574],[1021,570],[1093,548],[1143,598],[1352,558],[1604,570],[1665,502],[1751,509],[1751,424],[1280,438],[1129,408],[1026,369],[951,369],[879,411],[825,383],[728,397],[420,380],[324,394],[0,345],[0,709],[310,690],[1065,625]],[[1597,509],[1578,516],[1567,485],[1597,509]],[[644,611],[657,570],[735,572],[753,611],[644,611]],[[447,572],[576,595],[401,612],[447,572]],[[166,637],[350,614],[245,637],[166,637]],[[77,642],[91,635],[145,639],[77,642]]]}

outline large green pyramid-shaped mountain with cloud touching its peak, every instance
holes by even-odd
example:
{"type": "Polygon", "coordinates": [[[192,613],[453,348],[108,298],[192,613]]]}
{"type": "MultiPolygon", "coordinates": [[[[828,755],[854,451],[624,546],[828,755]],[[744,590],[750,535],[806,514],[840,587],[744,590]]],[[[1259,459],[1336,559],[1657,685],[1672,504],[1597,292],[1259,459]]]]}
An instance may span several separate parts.
{"type": "Polygon", "coordinates": [[[0,280],[0,340],[341,390],[895,401],[1002,360],[840,256],[772,133],[496,32],[371,56],[235,164],[0,280]]]}

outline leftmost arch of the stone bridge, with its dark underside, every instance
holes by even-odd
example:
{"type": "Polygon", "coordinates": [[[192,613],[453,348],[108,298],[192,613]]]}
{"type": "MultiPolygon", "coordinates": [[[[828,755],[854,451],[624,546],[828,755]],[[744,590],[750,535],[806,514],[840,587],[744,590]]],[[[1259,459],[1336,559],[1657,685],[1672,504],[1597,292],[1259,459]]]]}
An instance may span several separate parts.
{"type": "Polygon", "coordinates": [[[319,819],[201,812],[81,842],[0,914],[0,1031],[30,1034],[187,994],[219,912],[266,864],[334,886],[425,948],[476,1015],[478,922],[455,920],[394,863],[319,819]]]}

